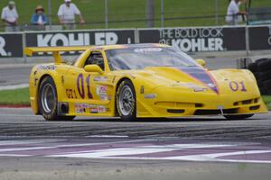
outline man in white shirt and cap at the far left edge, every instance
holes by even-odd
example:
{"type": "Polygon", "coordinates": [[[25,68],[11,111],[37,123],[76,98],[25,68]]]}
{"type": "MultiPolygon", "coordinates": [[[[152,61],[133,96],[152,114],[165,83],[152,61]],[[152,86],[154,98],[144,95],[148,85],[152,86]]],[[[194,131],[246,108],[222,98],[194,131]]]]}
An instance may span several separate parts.
{"type": "Polygon", "coordinates": [[[5,31],[18,31],[18,14],[15,8],[14,1],[10,1],[2,10],[1,19],[5,22],[5,31]]]}

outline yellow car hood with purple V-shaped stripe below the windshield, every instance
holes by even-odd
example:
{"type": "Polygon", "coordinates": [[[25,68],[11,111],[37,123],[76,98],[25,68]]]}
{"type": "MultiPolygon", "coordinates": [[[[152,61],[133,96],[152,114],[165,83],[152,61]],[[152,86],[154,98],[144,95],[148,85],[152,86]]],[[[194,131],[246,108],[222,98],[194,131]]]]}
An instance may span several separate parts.
{"type": "Polygon", "coordinates": [[[240,69],[209,71],[203,67],[145,67],[145,70],[133,71],[132,75],[144,79],[155,87],[171,86],[194,91],[210,90],[216,94],[224,88],[229,89],[232,81],[255,83],[251,73],[240,69]]]}

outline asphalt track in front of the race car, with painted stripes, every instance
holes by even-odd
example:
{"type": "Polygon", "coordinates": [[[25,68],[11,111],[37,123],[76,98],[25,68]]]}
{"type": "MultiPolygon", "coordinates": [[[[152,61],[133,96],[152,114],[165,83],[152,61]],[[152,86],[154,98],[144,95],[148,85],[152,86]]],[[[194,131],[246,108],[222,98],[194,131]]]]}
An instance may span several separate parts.
{"type": "Polygon", "coordinates": [[[0,179],[270,179],[271,113],[44,121],[0,109],[0,179]]]}

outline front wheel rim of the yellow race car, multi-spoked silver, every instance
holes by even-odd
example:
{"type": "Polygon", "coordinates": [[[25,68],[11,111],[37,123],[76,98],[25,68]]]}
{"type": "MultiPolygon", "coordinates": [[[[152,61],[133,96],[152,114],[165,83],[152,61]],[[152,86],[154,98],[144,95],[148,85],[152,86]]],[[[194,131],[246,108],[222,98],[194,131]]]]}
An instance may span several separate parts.
{"type": "Polygon", "coordinates": [[[128,85],[123,86],[118,101],[120,112],[123,115],[130,114],[133,111],[134,103],[135,98],[132,89],[128,85]]]}

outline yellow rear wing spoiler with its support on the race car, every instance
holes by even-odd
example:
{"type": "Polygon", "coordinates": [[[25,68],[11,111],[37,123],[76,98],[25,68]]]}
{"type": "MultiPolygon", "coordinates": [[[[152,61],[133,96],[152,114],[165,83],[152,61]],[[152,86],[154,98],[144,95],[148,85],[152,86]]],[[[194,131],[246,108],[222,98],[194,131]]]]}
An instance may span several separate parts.
{"type": "Polygon", "coordinates": [[[61,58],[60,52],[69,52],[69,51],[83,51],[91,49],[93,46],[74,46],[74,47],[27,47],[24,49],[24,54],[26,56],[32,57],[34,53],[38,52],[51,52],[54,58],[55,63],[61,63],[63,60],[61,58]]]}

